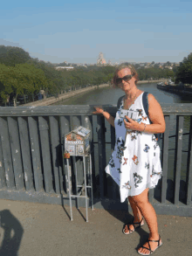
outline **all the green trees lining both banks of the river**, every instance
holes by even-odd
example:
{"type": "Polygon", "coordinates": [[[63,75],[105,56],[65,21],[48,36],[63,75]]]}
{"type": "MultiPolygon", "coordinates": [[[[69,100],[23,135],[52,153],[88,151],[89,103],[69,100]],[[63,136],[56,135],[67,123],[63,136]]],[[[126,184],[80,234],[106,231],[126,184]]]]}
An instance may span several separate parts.
{"type": "MultiPolygon", "coordinates": [[[[59,65],[58,65],[59,66],[59,65]]],[[[140,80],[173,78],[176,82],[192,83],[192,53],[173,70],[134,65],[140,80]]],[[[110,82],[115,66],[75,66],[72,71],[57,70],[50,62],[31,58],[20,47],[0,45],[0,100],[8,102],[18,95],[35,100],[39,90],[55,95],[79,87],[110,82]]]]}

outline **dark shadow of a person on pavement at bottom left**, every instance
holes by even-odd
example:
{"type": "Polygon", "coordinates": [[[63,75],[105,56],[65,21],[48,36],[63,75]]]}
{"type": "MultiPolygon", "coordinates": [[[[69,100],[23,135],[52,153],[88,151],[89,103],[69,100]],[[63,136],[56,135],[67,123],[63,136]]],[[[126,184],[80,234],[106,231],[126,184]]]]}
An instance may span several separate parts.
{"type": "Polygon", "coordinates": [[[9,210],[0,211],[0,218],[0,226],[4,230],[3,239],[1,239],[0,255],[17,256],[24,235],[24,229],[9,210]]]}

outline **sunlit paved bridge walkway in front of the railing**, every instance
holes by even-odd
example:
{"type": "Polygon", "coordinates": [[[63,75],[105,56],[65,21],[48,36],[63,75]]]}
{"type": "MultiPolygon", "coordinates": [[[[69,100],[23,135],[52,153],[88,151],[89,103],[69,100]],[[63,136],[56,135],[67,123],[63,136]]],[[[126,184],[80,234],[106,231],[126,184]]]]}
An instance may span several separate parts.
{"type": "MultiPolygon", "coordinates": [[[[0,200],[1,256],[139,255],[136,248],[147,239],[145,224],[131,235],[121,232],[132,216],[125,211],[73,209],[68,206],[0,200]]],[[[192,255],[192,218],[158,215],[163,245],[154,255],[192,255]]]]}

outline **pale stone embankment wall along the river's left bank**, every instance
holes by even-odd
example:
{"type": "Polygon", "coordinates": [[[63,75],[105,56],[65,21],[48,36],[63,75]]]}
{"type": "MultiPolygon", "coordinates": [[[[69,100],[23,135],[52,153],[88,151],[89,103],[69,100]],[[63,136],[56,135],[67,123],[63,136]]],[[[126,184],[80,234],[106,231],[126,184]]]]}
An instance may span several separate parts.
{"type": "Polygon", "coordinates": [[[82,88],[82,89],[72,91],[72,92],[69,92],[69,93],[59,94],[58,98],[50,97],[50,98],[46,98],[44,100],[33,101],[33,102],[30,102],[30,103],[24,104],[22,106],[24,106],[24,107],[28,107],[28,106],[29,107],[30,106],[34,106],[34,107],[49,106],[51,104],[57,103],[60,100],[65,100],[65,99],[68,99],[72,96],[76,96],[76,95],[81,94],[81,93],[86,93],[86,92],[92,91],[94,89],[97,89],[98,87],[102,88],[102,87],[106,87],[106,86],[109,86],[109,85],[108,84],[103,84],[103,85],[99,85],[99,86],[89,86],[89,87],[82,88]]]}

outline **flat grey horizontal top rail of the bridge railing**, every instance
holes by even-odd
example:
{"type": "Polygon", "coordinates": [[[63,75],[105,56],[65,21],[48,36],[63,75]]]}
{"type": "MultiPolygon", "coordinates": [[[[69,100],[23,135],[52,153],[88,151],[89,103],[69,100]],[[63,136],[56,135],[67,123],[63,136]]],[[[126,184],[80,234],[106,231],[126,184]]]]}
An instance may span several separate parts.
{"type": "MultiPolygon", "coordinates": [[[[0,107],[0,116],[34,115],[92,115],[96,105],[57,105],[44,107],[0,107]]],[[[117,111],[116,105],[101,105],[110,114],[117,111]]],[[[163,103],[164,115],[192,115],[192,103],[163,103]]]]}

